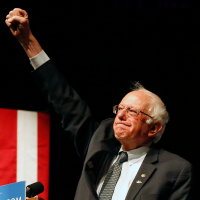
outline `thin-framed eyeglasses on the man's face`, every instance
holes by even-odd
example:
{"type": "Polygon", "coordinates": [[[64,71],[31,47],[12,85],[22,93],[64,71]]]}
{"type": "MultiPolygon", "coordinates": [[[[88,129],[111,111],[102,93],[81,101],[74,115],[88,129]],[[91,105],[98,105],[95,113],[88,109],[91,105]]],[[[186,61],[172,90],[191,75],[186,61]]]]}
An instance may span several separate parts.
{"type": "Polygon", "coordinates": [[[138,116],[139,113],[142,113],[142,114],[147,115],[148,117],[153,119],[153,117],[151,117],[150,115],[148,115],[148,114],[146,114],[146,113],[144,113],[144,112],[140,111],[139,109],[132,107],[132,106],[126,108],[122,105],[116,105],[116,106],[113,107],[113,113],[114,114],[117,114],[119,111],[122,111],[122,110],[126,110],[127,114],[130,117],[136,117],[136,116],[138,116]]]}

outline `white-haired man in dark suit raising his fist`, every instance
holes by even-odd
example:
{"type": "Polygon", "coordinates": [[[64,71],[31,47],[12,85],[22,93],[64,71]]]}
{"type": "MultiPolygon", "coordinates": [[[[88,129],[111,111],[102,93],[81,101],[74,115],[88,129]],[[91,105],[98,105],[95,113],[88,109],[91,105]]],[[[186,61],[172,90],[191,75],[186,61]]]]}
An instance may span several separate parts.
{"type": "Polygon", "coordinates": [[[168,122],[157,95],[137,83],[113,108],[115,119],[99,125],[32,35],[26,11],[14,9],[6,18],[35,68],[35,80],[84,159],[75,199],[192,199],[191,164],[154,147],[168,122]],[[121,155],[123,161],[119,161],[121,155]],[[117,172],[119,177],[113,178],[117,172]]]}

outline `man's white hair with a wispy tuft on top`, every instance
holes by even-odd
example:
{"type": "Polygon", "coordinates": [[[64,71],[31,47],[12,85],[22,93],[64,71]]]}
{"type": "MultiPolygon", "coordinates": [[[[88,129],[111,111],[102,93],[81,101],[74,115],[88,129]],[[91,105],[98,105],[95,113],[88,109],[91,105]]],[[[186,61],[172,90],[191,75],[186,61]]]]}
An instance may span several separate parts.
{"type": "Polygon", "coordinates": [[[150,92],[149,90],[145,89],[139,82],[134,83],[132,91],[143,91],[148,96],[150,96],[151,100],[149,103],[149,110],[148,114],[152,117],[149,118],[146,123],[151,124],[152,122],[161,122],[162,129],[157,132],[157,134],[153,138],[153,142],[157,143],[165,130],[166,123],[169,121],[169,114],[166,110],[165,104],[163,101],[158,97],[156,94],[150,92]]]}

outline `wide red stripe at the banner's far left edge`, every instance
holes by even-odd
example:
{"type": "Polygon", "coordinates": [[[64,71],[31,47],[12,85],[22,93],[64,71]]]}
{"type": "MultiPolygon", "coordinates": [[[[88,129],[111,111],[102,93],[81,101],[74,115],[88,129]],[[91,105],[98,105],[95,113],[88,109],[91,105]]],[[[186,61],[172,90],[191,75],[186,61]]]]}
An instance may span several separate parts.
{"type": "Polygon", "coordinates": [[[16,182],[17,111],[0,108],[0,186],[16,182]]]}

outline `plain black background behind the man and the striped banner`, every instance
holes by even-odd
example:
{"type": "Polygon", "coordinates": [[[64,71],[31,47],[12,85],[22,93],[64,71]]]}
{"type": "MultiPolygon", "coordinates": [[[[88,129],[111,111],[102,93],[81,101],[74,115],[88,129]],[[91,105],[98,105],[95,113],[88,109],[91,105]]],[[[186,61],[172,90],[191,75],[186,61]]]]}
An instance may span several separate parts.
{"type": "MultiPolygon", "coordinates": [[[[71,2],[73,6],[76,3],[71,2]]],[[[82,6],[83,2],[77,5],[82,6]]],[[[9,1],[0,14],[0,107],[51,113],[50,200],[65,196],[73,199],[82,161],[33,81],[32,67],[24,50],[5,25],[6,15],[15,7],[27,10],[33,34],[88,103],[97,121],[114,116],[112,106],[129,92],[133,81],[140,81],[159,95],[167,106],[170,121],[158,145],[193,164],[197,185],[200,175],[198,12],[97,11],[98,5],[91,5],[93,9],[89,10],[71,9],[61,1],[9,1]]],[[[112,5],[108,2],[109,8],[112,5]]]]}

